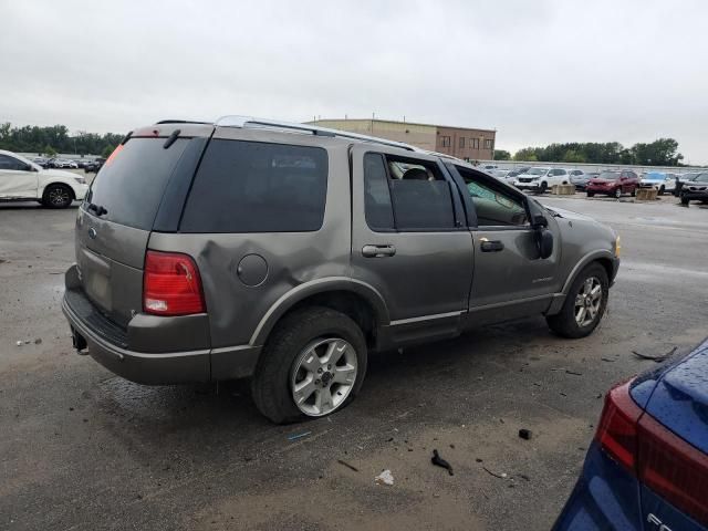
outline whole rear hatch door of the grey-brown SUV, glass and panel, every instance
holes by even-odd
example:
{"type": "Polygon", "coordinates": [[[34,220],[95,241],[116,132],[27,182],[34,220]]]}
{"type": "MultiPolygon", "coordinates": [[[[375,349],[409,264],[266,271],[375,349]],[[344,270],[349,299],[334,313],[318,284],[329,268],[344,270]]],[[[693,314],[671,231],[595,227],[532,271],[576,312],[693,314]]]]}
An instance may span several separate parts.
{"type": "Polygon", "coordinates": [[[84,294],[122,326],[142,312],[145,250],[170,176],[190,142],[178,137],[165,147],[174,127],[163,129],[119,145],[77,214],[76,263],[84,294]]]}

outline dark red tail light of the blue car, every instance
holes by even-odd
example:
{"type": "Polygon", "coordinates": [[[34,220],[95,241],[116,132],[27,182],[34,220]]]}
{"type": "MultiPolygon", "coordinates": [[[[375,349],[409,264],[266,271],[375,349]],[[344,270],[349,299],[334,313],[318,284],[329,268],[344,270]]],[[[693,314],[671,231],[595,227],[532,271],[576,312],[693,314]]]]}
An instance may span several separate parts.
{"type": "Polygon", "coordinates": [[[708,525],[708,455],[645,414],[629,395],[629,383],[607,394],[595,438],[642,483],[708,525]]]}

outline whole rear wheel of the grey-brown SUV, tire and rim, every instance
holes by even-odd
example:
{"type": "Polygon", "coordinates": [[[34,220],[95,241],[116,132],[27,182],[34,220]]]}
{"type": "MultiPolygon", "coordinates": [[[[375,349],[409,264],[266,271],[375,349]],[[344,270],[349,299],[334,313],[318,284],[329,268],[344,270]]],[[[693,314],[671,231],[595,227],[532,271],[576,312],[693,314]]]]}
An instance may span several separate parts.
{"type": "Polygon", "coordinates": [[[330,415],[357,395],[366,362],[364,334],[347,315],[321,306],[295,311],[266,343],[253,402],[275,424],[330,415]]]}

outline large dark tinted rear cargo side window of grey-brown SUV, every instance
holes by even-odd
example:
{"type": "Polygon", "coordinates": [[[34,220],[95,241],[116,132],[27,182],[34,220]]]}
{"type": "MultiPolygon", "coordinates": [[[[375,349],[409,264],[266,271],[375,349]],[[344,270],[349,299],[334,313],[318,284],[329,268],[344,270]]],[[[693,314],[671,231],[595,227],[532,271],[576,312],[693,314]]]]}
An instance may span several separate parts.
{"type": "Polygon", "coordinates": [[[322,227],[327,153],[260,142],[209,143],[181,232],[304,232],[322,227]]]}

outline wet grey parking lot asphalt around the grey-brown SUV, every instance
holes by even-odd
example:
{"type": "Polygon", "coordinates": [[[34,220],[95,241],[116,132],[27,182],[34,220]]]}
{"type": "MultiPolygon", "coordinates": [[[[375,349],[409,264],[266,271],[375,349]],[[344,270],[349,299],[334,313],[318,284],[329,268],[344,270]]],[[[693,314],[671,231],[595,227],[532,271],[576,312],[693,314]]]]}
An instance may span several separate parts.
{"type": "Polygon", "coordinates": [[[708,335],[708,209],[542,202],[622,236],[592,336],[535,317],[372,355],[356,402],[291,426],[262,418],[244,383],[145,387],[74,354],[60,301],[75,208],[0,206],[0,529],[549,529],[602,395],[654,366],[632,351],[708,335]],[[384,469],[393,486],[375,485],[384,469]]]}

